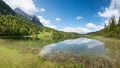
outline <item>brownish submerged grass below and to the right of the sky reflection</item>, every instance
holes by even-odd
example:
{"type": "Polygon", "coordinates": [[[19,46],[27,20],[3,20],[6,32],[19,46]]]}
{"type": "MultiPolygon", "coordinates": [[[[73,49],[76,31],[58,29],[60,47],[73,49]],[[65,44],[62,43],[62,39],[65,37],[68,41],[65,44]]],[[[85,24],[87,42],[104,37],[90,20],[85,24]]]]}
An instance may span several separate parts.
{"type": "Polygon", "coordinates": [[[85,68],[120,68],[120,40],[115,38],[106,38],[103,36],[85,36],[91,39],[96,39],[104,43],[104,47],[107,51],[104,57],[89,57],[89,56],[69,56],[67,58],[64,55],[47,57],[47,59],[53,58],[52,61],[56,62],[73,62],[81,63],[85,68]]]}

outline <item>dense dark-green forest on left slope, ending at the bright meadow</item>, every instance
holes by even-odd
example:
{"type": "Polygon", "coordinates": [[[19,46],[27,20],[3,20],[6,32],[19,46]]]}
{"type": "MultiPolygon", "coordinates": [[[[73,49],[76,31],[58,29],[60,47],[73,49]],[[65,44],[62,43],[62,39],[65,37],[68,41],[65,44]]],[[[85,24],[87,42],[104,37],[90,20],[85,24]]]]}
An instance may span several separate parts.
{"type": "Polygon", "coordinates": [[[0,36],[28,36],[38,34],[40,28],[17,15],[0,14],[0,36]]]}

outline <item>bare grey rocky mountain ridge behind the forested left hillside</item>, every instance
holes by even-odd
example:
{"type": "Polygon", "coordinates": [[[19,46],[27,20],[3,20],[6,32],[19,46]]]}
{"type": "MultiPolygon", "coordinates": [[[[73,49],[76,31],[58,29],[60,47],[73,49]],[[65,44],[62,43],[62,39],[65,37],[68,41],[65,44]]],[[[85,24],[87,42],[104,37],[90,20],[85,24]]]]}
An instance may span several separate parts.
{"type": "Polygon", "coordinates": [[[27,13],[25,13],[25,12],[24,12],[23,10],[21,10],[20,8],[15,8],[14,11],[15,11],[16,13],[18,13],[19,15],[21,15],[22,17],[30,20],[31,22],[33,22],[33,23],[36,24],[37,26],[40,26],[40,27],[43,26],[42,23],[39,21],[39,19],[38,19],[35,15],[33,15],[33,16],[28,15],[27,13]]]}

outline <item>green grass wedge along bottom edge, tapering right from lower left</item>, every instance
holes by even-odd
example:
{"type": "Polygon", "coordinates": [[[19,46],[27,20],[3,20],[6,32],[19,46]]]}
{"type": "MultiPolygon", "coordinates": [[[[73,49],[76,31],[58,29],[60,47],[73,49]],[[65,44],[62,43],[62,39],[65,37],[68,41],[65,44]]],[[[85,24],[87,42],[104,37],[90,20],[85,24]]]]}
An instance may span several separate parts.
{"type": "Polygon", "coordinates": [[[82,68],[81,64],[55,63],[43,60],[38,55],[21,53],[3,46],[0,46],[0,54],[0,68],[82,68]]]}

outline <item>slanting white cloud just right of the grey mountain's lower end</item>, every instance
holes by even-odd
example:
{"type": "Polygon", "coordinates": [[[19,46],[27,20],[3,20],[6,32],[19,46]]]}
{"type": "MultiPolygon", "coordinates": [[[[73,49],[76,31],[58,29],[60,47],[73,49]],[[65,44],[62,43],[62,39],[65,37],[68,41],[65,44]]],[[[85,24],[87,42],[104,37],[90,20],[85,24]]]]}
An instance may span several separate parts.
{"type": "Polygon", "coordinates": [[[53,25],[50,20],[45,19],[43,16],[38,16],[40,22],[47,27],[56,29],[56,25],[53,25]]]}

